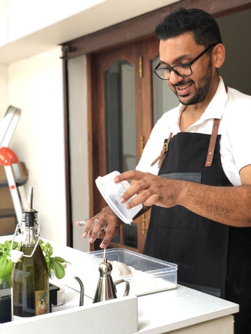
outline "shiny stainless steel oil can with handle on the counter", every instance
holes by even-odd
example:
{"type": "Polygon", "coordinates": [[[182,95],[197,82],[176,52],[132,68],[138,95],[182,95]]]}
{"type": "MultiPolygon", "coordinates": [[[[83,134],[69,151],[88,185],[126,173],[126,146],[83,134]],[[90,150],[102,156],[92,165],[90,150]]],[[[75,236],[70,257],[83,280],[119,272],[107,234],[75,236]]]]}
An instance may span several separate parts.
{"type": "Polygon", "coordinates": [[[113,282],[111,276],[112,264],[107,261],[107,257],[103,258],[103,262],[99,264],[98,270],[100,271],[100,278],[98,279],[98,285],[96,289],[96,294],[93,299],[93,303],[117,298],[116,285],[121,283],[126,284],[123,296],[128,296],[130,291],[129,282],[127,280],[117,280],[116,282],[113,282]]]}

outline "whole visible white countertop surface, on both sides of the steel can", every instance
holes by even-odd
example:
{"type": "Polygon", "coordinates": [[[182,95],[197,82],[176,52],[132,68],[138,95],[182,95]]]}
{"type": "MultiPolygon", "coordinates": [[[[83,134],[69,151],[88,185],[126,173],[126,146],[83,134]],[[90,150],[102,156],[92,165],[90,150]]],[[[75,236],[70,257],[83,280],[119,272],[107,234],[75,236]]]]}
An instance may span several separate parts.
{"type": "MultiPolygon", "coordinates": [[[[3,237],[0,237],[0,242],[3,240],[3,237]]],[[[70,267],[74,269],[72,273],[78,276],[76,273],[81,272],[84,268],[86,254],[73,248],[51,244],[54,247],[54,255],[60,255],[71,262],[70,267]]],[[[65,280],[66,285],[69,282],[70,280],[65,280]]],[[[53,312],[75,308],[79,305],[79,293],[75,291],[77,285],[66,286],[66,303],[54,307],[53,312]]],[[[84,305],[91,303],[91,299],[85,296],[84,305]]],[[[235,303],[181,285],[165,292],[139,296],[137,303],[139,328],[137,333],[165,333],[238,312],[238,305],[235,303]]]]}

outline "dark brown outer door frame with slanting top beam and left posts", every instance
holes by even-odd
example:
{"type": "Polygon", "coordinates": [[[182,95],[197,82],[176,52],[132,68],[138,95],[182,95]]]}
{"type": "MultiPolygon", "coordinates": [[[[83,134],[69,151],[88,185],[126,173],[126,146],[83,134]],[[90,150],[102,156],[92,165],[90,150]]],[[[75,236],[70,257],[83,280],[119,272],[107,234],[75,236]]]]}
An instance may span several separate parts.
{"type": "Polygon", "coordinates": [[[96,150],[93,145],[93,116],[92,109],[95,100],[91,93],[95,90],[95,83],[91,80],[91,53],[96,51],[112,48],[123,43],[132,42],[132,40],[140,40],[149,38],[154,35],[153,31],[156,24],[160,20],[180,7],[183,8],[201,8],[213,15],[213,17],[223,17],[242,10],[251,8],[250,0],[183,0],[172,3],[169,6],[160,8],[151,13],[146,13],[139,17],[129,19],[126,22],[121,22],[115,26],[110,26],[107,29],[102,29],[96,33],[85,35],[81,38],[63,43],[62,58],[63,58],[63,94],[64,94],[64,141],[65,141],[65,167],[66,167],[66,219],[67,219],[67,245],[73,246],[73,228],[71,221],[71,204],[70,204],[70,159],[69,159],[69,108],[68,108],[68,73],[67,61],[70,58],[87,55],[87,106],[88,106],[88,142],[89,142],[89,194],[90,194],[90,215],[93,214],[93,152],[96,150]]]}

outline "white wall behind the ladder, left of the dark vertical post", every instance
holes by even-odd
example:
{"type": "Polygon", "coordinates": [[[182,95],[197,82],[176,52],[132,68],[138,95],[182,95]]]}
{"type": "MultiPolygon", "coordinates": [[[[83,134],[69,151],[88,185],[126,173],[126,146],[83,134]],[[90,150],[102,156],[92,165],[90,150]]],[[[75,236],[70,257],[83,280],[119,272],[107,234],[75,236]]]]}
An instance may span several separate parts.
{"type": "Polygon", "coordinates": [[[43,237],[66,244],[61,48],[8,67],[8,103],[22,110],[10,143],[29,170],[43,237]]]}

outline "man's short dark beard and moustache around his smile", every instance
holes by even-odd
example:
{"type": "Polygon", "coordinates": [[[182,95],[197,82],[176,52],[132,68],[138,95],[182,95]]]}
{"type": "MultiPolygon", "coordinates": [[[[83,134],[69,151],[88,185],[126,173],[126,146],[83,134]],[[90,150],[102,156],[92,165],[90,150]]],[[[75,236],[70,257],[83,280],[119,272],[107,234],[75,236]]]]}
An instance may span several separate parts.
{"type": "Polygon", "coordinates": [[[204,100],[204,98],[206,97],[206,95],[208,94],[208,91],[210,90],[210,88],[212,86],[212,83],[213,83],[212,62],[210,61],[210,63],[208,64],[206,74],[198,80],[197,86],[195,85],[195,81],[193,81],[192,79],[180,81],[178,84],[175,84],[175,85],[172,85],[172,86],[174,87],[173,91],[176,94],[176,96],[178,97],[179,102],[181,102],[181,104],[183,104],[185,106],[189,106],[191,104],[197,104],[197,103],[201,102],[202,100],[204,100]],[[184,102],[184,101],[182,101],[183,97],[186,97],[187,95],[183,95],[182,97],[180,97],[178,95],[178,93],[176,92],[175,87],[183,86],[183,85],[186,85],[186,84],[194,84],[195,85],[195,94],[192,97],[190,97],[190,99],[188,101],[184,102]]]}

